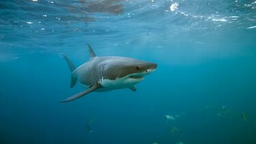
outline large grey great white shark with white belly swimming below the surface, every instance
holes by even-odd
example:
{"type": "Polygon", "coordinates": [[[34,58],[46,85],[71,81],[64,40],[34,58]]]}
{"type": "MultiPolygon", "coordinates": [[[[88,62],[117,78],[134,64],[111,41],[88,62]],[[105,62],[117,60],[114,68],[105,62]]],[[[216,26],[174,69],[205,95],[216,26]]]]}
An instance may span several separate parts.
{"type": "Polygon", "coordinates": [[[129,57],[97,57],[90,44],[89,61],[76,68],[68,57],[62,57],[68,63],[71,72],[70,87],[76,85],[76,81],[87,86],[85,91],[61,102],[69,102],[81,98],[91,91],[111,91],[113,89],[129,88],[136,91],[135,85],[143,81],[144,76],[156,70],[157,64],[129,57]]]}

